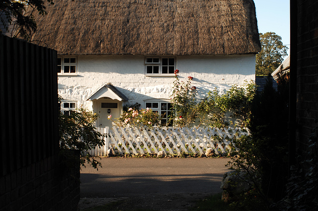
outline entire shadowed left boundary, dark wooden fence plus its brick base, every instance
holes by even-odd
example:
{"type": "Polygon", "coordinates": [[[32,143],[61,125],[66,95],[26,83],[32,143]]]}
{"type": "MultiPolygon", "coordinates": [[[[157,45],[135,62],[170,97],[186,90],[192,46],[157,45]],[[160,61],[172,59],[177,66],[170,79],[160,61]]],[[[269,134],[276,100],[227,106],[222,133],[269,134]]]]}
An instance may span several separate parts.
{"type": "Polygon", "coordinates": [[[56,68],[56,51],[0,35],[0,211],[77,211],[79,165],[59,157],[56,68]]]}

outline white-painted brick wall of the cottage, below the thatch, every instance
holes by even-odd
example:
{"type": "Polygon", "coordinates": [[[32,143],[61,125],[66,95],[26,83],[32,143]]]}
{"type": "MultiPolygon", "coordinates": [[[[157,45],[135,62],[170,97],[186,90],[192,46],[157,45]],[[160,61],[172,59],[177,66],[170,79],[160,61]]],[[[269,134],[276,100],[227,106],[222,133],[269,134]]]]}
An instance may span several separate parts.
{"type": "MultiPolygon", "coordinates": [[[[153,98],[169,99],[172,76],[146,76],[144,56],[133,55],[80,55],[77,76],[58,76],[59,94],[64,99],[78,101],[78,106],[92,109],[86,101],[107,83],[122,92],[128,104],[140,103],[153,98]]],[[[255,55],[187,55],[176,57],[179,78],[194,77],[200,97],[218,88],[225,91],[233,84],[255,80],[255,55]]]]}

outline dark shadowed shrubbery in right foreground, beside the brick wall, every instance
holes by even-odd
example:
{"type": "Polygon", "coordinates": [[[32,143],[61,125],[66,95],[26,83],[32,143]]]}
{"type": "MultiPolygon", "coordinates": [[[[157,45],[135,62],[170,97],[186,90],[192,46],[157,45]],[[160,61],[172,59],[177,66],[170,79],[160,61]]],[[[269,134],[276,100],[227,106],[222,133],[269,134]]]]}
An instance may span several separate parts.
{"type": "Polygon", "coordinates": [[[272,88],[271,80],[267,80],[264,92],[253,99],[251,135],[233,141],[239,151],[232,151],[228,166],[237,173],[246,172],[247,179],[242,179],[251,187],[233,202],[236,207],[248,210],[253,202],[269,209],[273,202],[284,197],[288,172],[288,81],[285,79],[279,82],[277,91],[272,88]]]}

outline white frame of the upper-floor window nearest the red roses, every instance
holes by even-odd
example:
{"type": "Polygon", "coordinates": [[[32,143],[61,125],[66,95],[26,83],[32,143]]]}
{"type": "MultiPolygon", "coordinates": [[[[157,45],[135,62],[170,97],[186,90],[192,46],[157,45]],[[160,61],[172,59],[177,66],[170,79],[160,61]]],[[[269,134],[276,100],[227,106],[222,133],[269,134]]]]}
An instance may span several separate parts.
{"type": "MultiPolygon", "coordinates": [[[[175,56],[147,56],[145,57],[145,75],[146,76],[174,76],[174,70],[176,69],[176,57],[175,56]],[[173,58],[173,65],[169,63],[169,59],[173,58]],[[155,60],[155,59],[158,59],[155,60]],[[163,65],[162,60],[163,59],[168,59],[168,64],[163,65]],[[149,61],[152,60],[152,61],[149,61]],[[153,61],[155,60],[155,61],[153,61]],[[150,67],[158,67],[158,73],[148,73],[148,68],[150,67]],[[164,68],[167,68],[167,73],[162,73],[164,68]],[[172,67],[172,68],[170,68],[172,67]],[[173,69],[173,71],[170,71],[169,73],[169,68],[173,69]]],[[[154,69],[153,69],[154,71],[154,69]]]]}

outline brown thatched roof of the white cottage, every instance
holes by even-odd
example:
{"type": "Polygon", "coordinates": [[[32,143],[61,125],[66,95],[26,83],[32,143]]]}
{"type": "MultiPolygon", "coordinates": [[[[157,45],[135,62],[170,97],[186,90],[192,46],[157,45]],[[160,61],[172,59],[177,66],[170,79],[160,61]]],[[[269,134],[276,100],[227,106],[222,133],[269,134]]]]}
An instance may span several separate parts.
{"type": "MultiPolygon", "coordinates": [[[[59,54],[245,54],[260,51],[253,0],[55,0],[37,16],[59,54]]],[[[44,45],[43,43],[40,45],[44,45]]],[[[44,45],[46,46],[46,45],[44,45]]]]}

